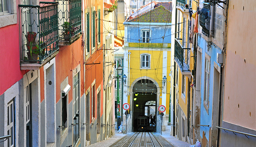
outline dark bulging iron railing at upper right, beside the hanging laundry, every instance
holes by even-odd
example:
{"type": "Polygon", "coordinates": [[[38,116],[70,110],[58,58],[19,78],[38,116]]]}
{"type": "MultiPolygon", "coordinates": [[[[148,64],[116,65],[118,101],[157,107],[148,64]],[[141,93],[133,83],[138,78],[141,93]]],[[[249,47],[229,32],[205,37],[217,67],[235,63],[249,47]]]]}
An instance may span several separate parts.
{"type": "Polygon", "coordinates": [[[210,4],[204,4],[204,7],[200,10],[199,24],[202,27],[203,33],[209,35],[210,29],[210,4]]]}

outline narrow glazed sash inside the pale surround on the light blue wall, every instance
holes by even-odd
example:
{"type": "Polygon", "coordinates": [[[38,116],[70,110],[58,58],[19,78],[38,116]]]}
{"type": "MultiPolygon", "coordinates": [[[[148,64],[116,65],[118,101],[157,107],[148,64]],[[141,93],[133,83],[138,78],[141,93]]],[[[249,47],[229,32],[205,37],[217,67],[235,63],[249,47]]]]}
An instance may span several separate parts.
{"type": "Polygon", "coordinates": [[[204,75],[204,101],[208,105],[209,101],[209,84],[210,84],[210,61],[205,58],[205,75],[204,75]]]}

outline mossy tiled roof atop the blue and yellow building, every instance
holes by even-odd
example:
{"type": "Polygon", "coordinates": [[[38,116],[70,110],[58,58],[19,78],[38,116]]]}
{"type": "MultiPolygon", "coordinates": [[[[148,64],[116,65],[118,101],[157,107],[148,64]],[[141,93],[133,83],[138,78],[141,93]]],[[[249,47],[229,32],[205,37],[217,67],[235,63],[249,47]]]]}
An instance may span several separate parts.
{"type": "Polygon", "coordinates": [[[127,22],[169,23],[171,21],[172,12],[160,5],[151,11],[145,12],[138,17],[128,20],[127,22]]]}

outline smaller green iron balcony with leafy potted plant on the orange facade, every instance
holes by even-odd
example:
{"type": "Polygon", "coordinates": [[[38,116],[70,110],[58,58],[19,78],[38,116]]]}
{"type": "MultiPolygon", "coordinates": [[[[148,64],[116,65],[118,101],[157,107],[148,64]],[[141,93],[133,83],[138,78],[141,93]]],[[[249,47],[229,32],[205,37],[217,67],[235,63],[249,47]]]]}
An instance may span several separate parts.
{"type": "Polygon", "coordinates": [[[71,45],[82,32],[82,1],[58,0],[59,45],[71,45]]]}

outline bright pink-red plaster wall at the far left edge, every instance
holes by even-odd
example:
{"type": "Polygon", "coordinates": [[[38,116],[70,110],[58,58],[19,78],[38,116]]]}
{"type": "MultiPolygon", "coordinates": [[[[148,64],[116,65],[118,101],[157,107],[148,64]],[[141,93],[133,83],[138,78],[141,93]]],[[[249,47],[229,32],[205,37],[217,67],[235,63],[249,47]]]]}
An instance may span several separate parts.
{"type": "MultiPolygon", "coordinates": [[[[14,9],[17,11],[18,4],[19,1],[16,1],[17,7],[14,9]]],[[[0,95],[2,95],[23,77],[25,71],[20,71],[19,23],[0,28],[0,34],[0,95]]]]}

